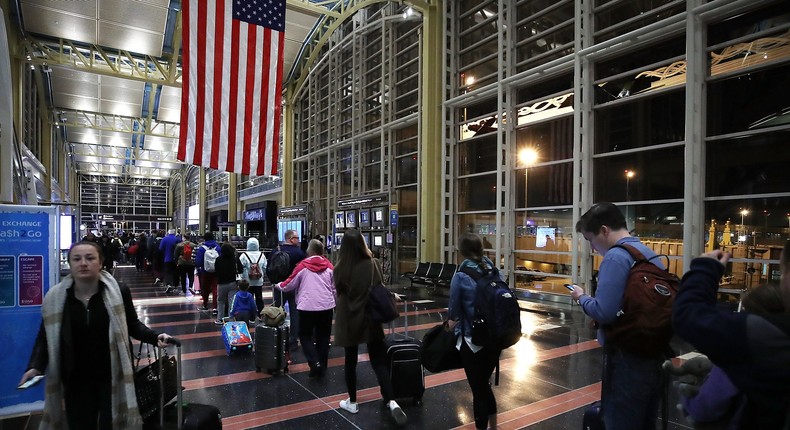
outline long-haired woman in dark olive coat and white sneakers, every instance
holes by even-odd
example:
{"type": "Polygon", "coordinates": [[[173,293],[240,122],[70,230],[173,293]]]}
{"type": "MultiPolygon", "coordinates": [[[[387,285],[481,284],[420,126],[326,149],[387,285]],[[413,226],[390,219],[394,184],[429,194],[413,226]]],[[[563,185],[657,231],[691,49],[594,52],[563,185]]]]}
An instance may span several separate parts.
{"type": "Polygon", "coordinates": [[[348,399],[340,401],[340,408],[352,414],[359,412],[357,404],[357,359],[359,345],[367,344],[370,365],[376,373],[381,397],[398,425],[406,424],[406,414],[392,398],[392,381],[387,371],[387,345],[381,324],[371,321],[367,311],[371,279],[380,282],[381,268],[365,245],[358,230],[346,230],[338,251],[334,270],[337,289],[335,315],[335,345],[345,348],[345,379],[348,399]],[[377,271],[378,270],[378,271],[377,271]]]}

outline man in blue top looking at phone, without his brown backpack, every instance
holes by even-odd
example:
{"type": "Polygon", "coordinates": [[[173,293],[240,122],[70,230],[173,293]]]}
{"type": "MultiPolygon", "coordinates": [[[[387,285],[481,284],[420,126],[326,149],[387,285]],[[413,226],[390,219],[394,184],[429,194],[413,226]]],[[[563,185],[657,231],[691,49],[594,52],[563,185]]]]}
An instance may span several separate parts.
{"type": "MultiPolygon", "coordinates": [[[[625,217],[612,203],[595,204],[576,223],[576,231],[590,242],[594,251],[603,255],[595,297],[586,295],[578,286],[574,286],[571,297],[600,325],[598,342],[604,347],[602,381],[606,384],[602,389],[601,406],[606,429],[653,430],[661,399],[661,364],[666,356],[645,356],[609,344],[604,326],[617,319],[628,274],[634,263],[627,250],[615,245],[631,245],[646,259],[656,253],[628,233],[625,217]]],[[[650,262],[664,268],[658,258],[650,262]]]]}

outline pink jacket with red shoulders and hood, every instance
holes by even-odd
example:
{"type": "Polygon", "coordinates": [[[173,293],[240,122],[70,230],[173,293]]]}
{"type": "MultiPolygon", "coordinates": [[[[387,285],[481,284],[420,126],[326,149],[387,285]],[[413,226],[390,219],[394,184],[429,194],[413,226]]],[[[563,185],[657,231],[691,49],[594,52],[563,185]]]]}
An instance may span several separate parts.
{"type": "Polygon", "coordinates": [[[281,282],[283,291],[296,290],[296,309],[325,311],[335,308],[334,266],[323,255],[313,255],[300,261],[291,276],[281,282]]]}

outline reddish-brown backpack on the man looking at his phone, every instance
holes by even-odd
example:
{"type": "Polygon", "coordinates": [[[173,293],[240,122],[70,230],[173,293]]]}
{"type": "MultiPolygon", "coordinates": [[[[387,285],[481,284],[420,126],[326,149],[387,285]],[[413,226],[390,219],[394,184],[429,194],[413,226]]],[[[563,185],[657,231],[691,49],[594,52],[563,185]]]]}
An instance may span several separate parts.
{"type": "Polygon", "coordinates": [[[645,258],[631,245],[614,247],[628,251],[634,264],[626,278],[623,307],[617,319],[604,326],[606,342],[635,354],[659,355],[667,351],[672,339],[672,303],[678,294],[680,279],[651,262],[660,257],[669,262],[666,255],[645,258]]]}

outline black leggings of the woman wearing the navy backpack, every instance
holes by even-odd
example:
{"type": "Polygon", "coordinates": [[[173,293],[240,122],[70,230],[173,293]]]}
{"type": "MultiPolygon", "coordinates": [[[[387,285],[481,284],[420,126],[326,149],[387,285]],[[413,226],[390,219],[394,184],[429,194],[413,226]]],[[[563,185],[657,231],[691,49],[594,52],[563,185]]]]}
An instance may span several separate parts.
{"type": "Polygon", "coordinates": [[[488,427],[488,416],[496,413],[496,397],[491,389],[491,374],[496,368],[501,351],[483,348],[477,353],[469,349],[461,340],[461,361],[464,363],[466,380],[472,389],[472,410],[475,414],[475,427],[488,427]]]}

